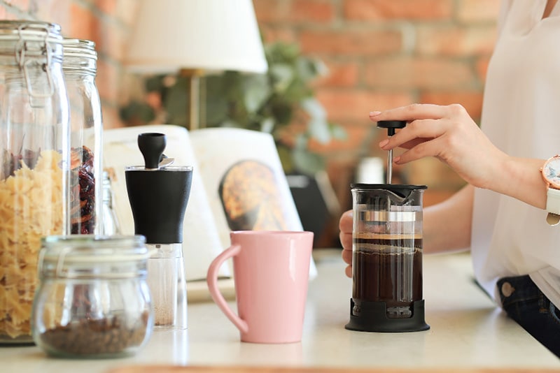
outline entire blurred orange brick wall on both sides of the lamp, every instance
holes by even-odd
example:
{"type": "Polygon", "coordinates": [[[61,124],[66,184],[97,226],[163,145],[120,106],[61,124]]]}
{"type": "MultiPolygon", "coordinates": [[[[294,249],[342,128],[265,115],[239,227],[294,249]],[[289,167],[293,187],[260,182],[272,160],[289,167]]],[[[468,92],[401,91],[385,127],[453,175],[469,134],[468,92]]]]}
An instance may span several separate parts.
{"type": "MultiPolygon", "coordinates": [[[[157,0],[154,0],[157,1],[157,0]]],[[[203,1],[203,0],[200,0],[203,1]]],[[[227,0],[224,0],[227,1],[227,0]]],[[[479,120],[486,65],[495,41],[499,0],[253,0],[266,41],[289,41],[319,57],[330,73],[316,82],[318,99],[348,139],[314,144],[342,208],[363,156],[385,156],[384,136],[367,117],[408,103],[461,103],[479,120]]],[[[0,0],[0,18],[57,22],[64,36],[97,43],[97,84],[106,128],[122,126],[118,106],[137,80],[121,61],[136,0],[0,0]]],[[[426,159],[395,170],[428,184],[425,205],[462,185],[441,163],[426,159]]],[[[332,236],[337,232],[332,221],[332,236]]]]}

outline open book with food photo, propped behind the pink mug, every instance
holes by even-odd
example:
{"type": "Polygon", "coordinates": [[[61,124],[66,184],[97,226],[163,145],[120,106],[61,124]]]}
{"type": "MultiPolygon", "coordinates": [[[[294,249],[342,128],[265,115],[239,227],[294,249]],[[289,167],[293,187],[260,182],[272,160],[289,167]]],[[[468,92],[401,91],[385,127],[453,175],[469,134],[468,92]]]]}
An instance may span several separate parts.
{"type": "MultiPolygon", "coordinates": [[[[268,133],[211,128],[187,131],[158,124],[104,131],[104,168],[111,176],[113,208],[120,233],[134,234],[125,166],[143,166],[140,133],[165,133],[164,154],[174,165],[193,166],[193,184],[183,221],[183,255],[189,300],[209,300],[211,261],[230,245],[230,231],[302,231],[274,139],[268,133]]],[[[309,275],[316,276],[311,260],[309,275]]],[[[232,295],[232,266],[220,276],[224,295],[232,295]]]]}

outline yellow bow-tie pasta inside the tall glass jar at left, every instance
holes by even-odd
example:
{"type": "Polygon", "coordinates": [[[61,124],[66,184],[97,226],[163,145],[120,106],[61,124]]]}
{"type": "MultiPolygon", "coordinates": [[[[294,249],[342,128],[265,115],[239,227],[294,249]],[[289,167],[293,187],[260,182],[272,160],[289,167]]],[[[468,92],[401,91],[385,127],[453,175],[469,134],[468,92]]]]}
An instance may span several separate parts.
{"type": "Polygon", "coordinates": [[[41,237],[62,233],[61,156],[41,152],[0,181],[0,339],[31,335],[41,237]]]}

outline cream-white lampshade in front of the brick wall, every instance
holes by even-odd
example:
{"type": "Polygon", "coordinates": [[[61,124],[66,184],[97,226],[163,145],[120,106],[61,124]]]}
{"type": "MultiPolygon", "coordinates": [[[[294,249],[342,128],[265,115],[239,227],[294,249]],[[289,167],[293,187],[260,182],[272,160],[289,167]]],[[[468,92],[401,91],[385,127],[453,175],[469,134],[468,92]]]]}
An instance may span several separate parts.
{"type": "Polygon", "coordinates": [[[251,0],[139,0],[125,56],[136,71],[181,68],[264,73],[251,0]]]}

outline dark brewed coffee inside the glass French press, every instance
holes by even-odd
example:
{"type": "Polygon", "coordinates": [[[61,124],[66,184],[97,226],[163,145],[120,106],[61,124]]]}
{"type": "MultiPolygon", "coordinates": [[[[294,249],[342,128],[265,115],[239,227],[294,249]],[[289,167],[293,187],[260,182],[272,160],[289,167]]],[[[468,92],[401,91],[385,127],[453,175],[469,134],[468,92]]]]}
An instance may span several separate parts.
{"type": "Polygon", "coordinates": [[[353,290],[360,302],[385,302],[389,317],[409,317],[422,299],[422,238],[358,235],[354,238],[353,290]]]}

